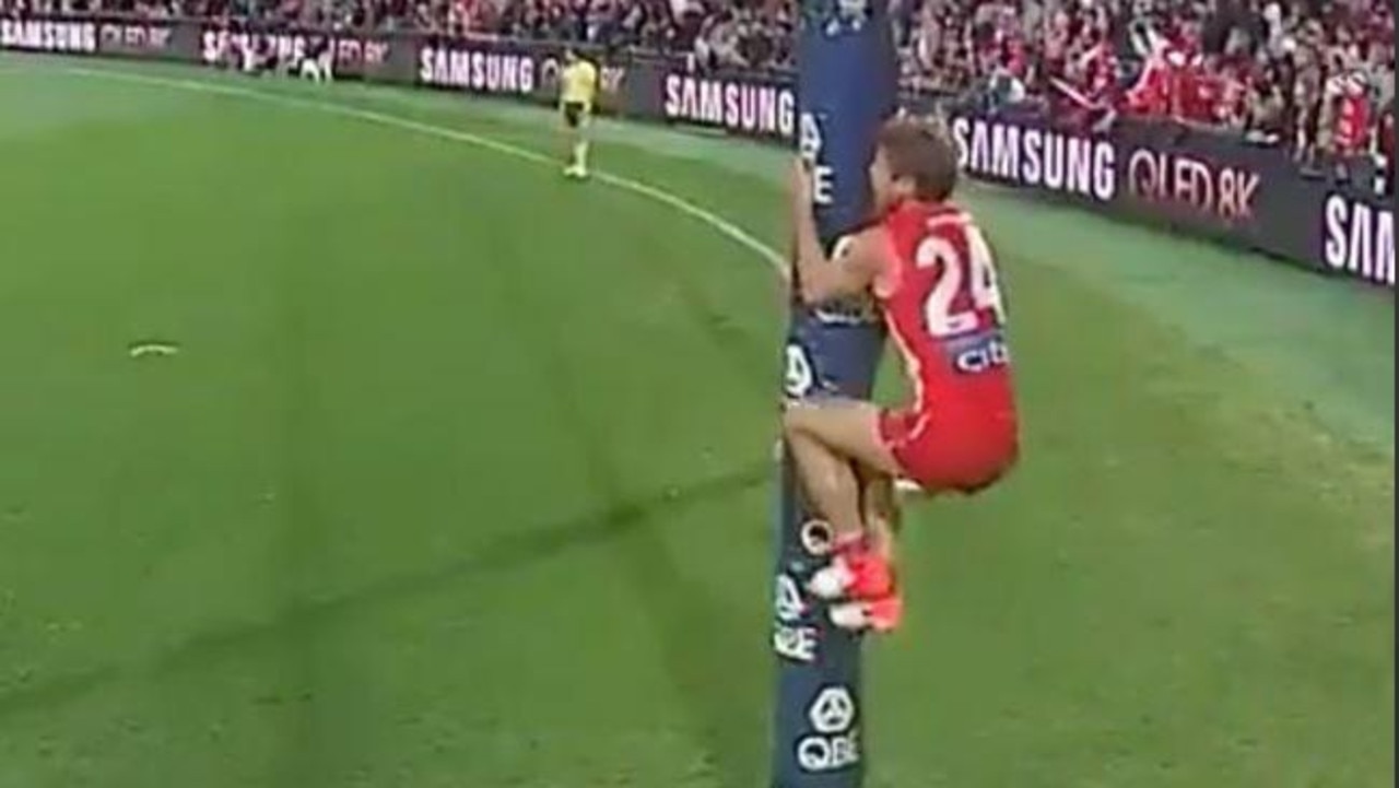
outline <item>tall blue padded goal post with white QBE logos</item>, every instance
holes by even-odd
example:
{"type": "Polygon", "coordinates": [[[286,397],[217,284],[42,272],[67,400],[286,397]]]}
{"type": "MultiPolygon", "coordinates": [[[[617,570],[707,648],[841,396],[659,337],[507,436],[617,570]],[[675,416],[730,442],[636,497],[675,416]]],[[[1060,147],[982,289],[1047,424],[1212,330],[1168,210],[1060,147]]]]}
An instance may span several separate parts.
{"type": "MultiPolygon", "coordinates": [[[[802,0],[797,106],[800,151],[811,162],[813,210],[830,256],[869,209],[866,168],[897,99],[887,0],[802,0]]],[[[793,288],[796,291],[796,288],[793,288]]],[[[883,350],[869,304],[792,305],[783,395],[867,399],[883,350]]],[[[858,788],[866,746],[860,637],[831,624],[806,584],[824,564],[830,528],[800,501],[782,460],[772,644],[779,659],[772,788],[858,788]]]]}

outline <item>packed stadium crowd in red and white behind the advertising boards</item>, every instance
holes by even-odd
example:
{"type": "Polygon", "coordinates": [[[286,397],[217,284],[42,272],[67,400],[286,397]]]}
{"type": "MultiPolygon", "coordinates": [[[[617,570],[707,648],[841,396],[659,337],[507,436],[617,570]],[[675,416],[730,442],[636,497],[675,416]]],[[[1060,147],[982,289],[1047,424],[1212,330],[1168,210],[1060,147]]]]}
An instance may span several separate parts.
{"type": "MultiPolygon", "coordinates": [[[[838,0],[859,4],[867,0],[838,0]]],[[[891,0],[902,77],[992,105],[1235,129],[1304,164],[1392,161],[1388,0],[891,0]]],[[[14,10],[260,17],[793,64],[797,0],[0,0],[14,10]]]]}

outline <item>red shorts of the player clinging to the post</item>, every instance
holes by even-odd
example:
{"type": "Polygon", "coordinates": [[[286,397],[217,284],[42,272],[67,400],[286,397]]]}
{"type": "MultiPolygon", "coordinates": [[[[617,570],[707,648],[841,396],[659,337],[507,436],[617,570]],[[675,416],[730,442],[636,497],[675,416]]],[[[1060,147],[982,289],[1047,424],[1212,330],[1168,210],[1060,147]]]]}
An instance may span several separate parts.
{"type": "Polygon", "coordinates": [[[989,487],[1020,455],[1013,413],[883,410],[879,434],[904,474],[929,493],[989,487]]]}

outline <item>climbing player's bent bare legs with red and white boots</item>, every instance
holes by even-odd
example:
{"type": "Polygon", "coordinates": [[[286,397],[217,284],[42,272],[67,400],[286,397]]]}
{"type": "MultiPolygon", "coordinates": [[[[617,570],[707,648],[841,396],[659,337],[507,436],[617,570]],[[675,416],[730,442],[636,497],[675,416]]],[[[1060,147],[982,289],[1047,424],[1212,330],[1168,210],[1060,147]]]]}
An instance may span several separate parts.
{"type": "Polygon", "coordinates": [[[851,600],[832,607],[838,626],[894,628],[902,614],[890,564],[898,465],[879,438],[879,409],[855,400],[792,403],[783,434],[806,494],[835,530],[837,554],[811,577],[811,592],[851,600]],[[865,484],[856,466],[866,469],[865,484]]]}

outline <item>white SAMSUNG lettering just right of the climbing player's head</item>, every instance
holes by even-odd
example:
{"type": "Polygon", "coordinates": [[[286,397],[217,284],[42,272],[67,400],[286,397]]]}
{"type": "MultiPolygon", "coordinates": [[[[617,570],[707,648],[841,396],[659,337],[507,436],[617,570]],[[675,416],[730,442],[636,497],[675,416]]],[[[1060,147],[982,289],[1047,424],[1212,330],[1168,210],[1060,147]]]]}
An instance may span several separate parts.
{"type": "Polygon", "coordinates": [[[971,175],[1100,203],[1118,193],[1118,155],[1107,140],[979,118],[957,118],[951,129],[971,175]]]}

